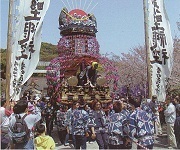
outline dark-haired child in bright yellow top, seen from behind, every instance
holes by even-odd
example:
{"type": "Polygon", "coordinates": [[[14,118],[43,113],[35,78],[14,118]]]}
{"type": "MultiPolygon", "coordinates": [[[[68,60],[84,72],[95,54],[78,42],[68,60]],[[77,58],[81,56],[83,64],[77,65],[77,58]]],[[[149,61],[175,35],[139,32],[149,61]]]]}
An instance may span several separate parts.
{"type": "Polygon", "coordinates": [[[34,140],[36,150],[53,150],[55,149],[55,142],[52,137],[45,135],[46,128],[44,124],[37,125],[36,132],[38,136],[34,140]]]}

